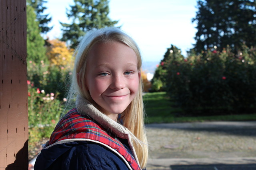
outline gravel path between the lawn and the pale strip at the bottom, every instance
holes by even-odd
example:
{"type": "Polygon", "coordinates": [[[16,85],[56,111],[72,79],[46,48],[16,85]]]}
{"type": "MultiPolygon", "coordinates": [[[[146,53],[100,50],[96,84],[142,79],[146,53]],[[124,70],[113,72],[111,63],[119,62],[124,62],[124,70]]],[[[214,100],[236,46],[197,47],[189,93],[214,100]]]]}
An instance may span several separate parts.
{"type": "Polygon", "coordinates": [[[149,158],[156,162],[256,157],[256,121],[150,124],[146,132],[149,158]]]}

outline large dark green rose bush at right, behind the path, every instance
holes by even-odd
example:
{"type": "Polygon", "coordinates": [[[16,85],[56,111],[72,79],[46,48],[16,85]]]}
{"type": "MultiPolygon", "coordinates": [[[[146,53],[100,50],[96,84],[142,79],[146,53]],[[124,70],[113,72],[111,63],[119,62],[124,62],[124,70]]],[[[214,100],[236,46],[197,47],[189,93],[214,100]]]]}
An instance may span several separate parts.
{"type": "Polygon", "coordinates": [[[190,114],[252,113],[256,111],[256,50],[229,48],[182,61],[170,59],[166,91],[190,114]]]}

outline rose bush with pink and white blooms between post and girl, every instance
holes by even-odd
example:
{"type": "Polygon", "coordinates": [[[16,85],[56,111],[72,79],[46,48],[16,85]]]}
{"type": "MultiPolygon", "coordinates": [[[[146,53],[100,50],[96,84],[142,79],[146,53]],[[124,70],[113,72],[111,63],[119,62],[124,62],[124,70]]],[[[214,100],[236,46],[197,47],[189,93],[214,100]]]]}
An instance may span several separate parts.
{"type": "MultiPolygon", "coordinates": [[[[65,109],[65,80],[70,74],[43,61],[28,61],[28,123],[29,151],[50,137],[65,109]]],[[[31,152],[30,152],[31,154],[31,152]]]]}

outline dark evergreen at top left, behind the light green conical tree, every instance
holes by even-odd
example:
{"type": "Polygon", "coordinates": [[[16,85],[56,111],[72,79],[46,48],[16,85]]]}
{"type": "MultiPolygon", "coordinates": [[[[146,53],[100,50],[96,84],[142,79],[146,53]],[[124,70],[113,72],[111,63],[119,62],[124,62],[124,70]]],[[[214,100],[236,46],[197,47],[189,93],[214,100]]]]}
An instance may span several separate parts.
{"type": "Polygon", "coordinates": [[[42,33],[47,33],[52,29],[52,27],[48,27],[48,23],[52,20],[52,17],[49,17],[49,14],[44,14],[46,7],[43,4],[46,2],[46,0],[27,0],[28,6],[34,8],[36,12],[36,19],[39,22],[42,33]]]}

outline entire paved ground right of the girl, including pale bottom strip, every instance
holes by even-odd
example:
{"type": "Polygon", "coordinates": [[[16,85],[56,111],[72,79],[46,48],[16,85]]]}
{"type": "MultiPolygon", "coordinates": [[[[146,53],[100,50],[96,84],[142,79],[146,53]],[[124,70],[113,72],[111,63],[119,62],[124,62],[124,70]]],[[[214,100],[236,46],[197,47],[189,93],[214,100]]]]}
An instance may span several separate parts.
{"type": "Polygon", "coordinates": [[[147,170],[256,170],[256,121],[149,124],[146,129],[147,170]]]}

